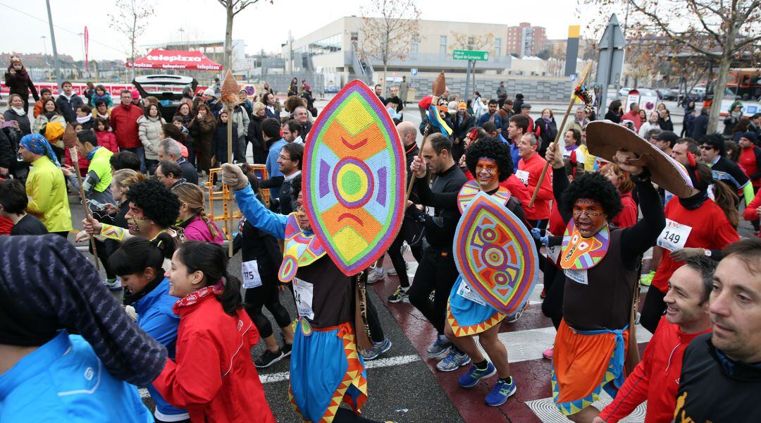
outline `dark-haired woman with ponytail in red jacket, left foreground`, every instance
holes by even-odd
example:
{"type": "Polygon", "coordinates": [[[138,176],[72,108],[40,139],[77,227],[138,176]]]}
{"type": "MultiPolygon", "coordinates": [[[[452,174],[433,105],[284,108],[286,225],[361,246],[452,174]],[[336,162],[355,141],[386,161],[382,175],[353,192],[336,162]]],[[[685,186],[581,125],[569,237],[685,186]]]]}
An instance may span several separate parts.
{"type": "Polygon", "coordinates": [[[249,353],[259,332],[240,302],[240,280],[215,243],[188,241],[172,256],[169,294],[180,298],[177,351],[153,386],[191,421],[275,423],[249,353]]]}

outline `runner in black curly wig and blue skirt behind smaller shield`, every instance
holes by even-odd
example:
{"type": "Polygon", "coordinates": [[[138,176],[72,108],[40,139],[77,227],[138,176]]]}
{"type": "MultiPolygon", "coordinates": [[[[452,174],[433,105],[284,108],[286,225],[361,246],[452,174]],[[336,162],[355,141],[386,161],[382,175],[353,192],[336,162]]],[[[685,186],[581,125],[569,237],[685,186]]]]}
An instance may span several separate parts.
{"type": "MultiPolygon", "coordinates": [[[[421,202],[424,205],[434,206],[436,208],[458,208],[463,213],[463,218],[458,224],[458,233],[467,226],[464,221],[470,221],[470,213],[467,208],[470,207],[479,195],[486,193],[495,200],[497,205],[505,205],[505,208],[512,212],[517,219],[525,225],[524,213],[521,208],[521,202],[511,196],[510,191],[501,186],[500,183],[512,174],[513,164],[508,151],[507,145],[494,138],[485,138],[479,142],[470,145],[466,152],[466,164],[470,173],[476,175],[476,180],[470,180],[463,185],[460,192],[435,193],[431,191],[425,180],[425,162],[420,157],[412,162],[410,169],[416,173],[416,191],[418,192],[421,202]]],[[[482,225],[482,221],[473,222],[482,225]]],[[[527,232],[527,231],[526,231],[527,232]]],[[[496,244],[508,243],[509,235],[501,231],[492,231],[494,237],[501,237],[501,240],[495,241],[496,244]]],[[[486,235],[484,235],[486,237],[486,235]]],[[[528,245],[528,251],[533,252],[533,240],[528,245]]],[[[455,237],[453,250],[458,250],[457,243],[465,242],[466,237],[455,237]]],[[[501,256],[501,252],[494,252],[501,256]]],[[[537,272],[537,259],[534,256],[533,272],[537,272]]],[[[501,266],[500,266],[501,267],[501,266]]],[[[486,267],[482,272],[491,272],[492,268],[486,267]]],[[[514,308],[520,307],[522,298],[518,299],[519,304],[514,304],[514,308]]],[[[492,377],[498,374],[498,381],[492,389],[492,392],[486,396],[486,403],[489,406],[500,406],[507,401],[508,397],[515,393],[516,387],[510,375],[510,366],[508,362],[508,352],[505,345],[499,342],[497,335],[502,320],[505,319],[504,310],[498,310],[492,304],[487,302],[484,297],[476,291],[476,287],[471,287],[463,276],[458,275],[457,280],[449,294],[447,304],[447,322],[444,333],[461,351],[465,352],[473,361],[470,371],[464,374],[458,380],[460,386],[476,386],[479,380],[492,377]],[[482,352],[473,339],[474,335],[479,336],[479,342],[486,350],[486,353],[492,358],[495,364],[486,360],[482,352]]],[[[447,360],[456,359],[452,355],[444,358],[447,360]]]]}

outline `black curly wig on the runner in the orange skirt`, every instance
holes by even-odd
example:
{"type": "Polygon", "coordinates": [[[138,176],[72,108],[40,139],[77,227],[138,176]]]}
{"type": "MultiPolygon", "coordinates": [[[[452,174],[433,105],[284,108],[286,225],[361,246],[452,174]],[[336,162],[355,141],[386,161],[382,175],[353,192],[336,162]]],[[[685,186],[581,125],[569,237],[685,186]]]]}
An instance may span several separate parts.
{"type": "Polygon", "coordinates": [[[571,213],[573,205],[578,199],[599,201],[603,206],[603,212],[605,212],[609,219],[618,215],[623,208],[621,196],[616,187],[613,186],[613,183],[607,177],[603,177],[602,174],[597,172],[582,174],[573,180],[568,189],[565,189],[561,198],[563,212],[571,213]]]}

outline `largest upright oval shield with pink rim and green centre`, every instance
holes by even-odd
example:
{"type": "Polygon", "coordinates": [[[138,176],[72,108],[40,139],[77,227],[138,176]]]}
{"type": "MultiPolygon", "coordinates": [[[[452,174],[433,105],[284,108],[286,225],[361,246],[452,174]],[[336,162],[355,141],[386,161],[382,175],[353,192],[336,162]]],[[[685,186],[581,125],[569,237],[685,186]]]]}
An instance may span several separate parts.
{"type": "Polygon", "coordinates": [[[345,275],[367,269],[396,237],[405,164],[391,117],[362,81],[343,87],[314,122],[304,145],[304,209],[345,275]]]}

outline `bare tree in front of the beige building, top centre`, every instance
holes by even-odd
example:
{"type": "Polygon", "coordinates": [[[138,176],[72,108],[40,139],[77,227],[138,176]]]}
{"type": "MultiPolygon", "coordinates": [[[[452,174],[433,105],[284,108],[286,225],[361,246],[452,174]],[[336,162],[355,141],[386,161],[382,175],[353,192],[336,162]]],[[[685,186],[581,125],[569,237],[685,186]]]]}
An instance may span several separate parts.
{"type": "Polygon", "coordinates": [[[420,11],[416,0],[369,0],[360,8],[360,55],[383,63],[383,85],[392,59],[404,60],[420,40],[420,11]],[[380,14],[380,17],[373,17],[380,14]]]}

